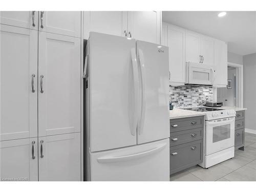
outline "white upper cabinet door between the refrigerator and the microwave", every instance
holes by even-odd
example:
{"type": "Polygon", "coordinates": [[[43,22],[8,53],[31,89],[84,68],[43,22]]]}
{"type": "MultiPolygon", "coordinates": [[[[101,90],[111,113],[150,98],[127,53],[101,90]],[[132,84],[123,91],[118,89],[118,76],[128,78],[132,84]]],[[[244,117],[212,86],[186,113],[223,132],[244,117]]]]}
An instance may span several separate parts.
{"type": "Polygon", "coordinates": [[[185,30],[168,25],[170,84],[185,83],[185,30]]]}

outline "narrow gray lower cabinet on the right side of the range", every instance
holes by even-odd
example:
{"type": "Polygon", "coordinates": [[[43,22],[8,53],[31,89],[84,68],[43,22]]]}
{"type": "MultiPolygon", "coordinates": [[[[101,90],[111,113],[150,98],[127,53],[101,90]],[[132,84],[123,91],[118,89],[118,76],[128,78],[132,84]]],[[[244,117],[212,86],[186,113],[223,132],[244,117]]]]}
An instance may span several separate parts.
{"type": "Polygon", "coordinates": [[[236,112],[236,120],[234,124],[234,149],[244,151],[244,139],[245,139],[245,111],[236,112]]]}

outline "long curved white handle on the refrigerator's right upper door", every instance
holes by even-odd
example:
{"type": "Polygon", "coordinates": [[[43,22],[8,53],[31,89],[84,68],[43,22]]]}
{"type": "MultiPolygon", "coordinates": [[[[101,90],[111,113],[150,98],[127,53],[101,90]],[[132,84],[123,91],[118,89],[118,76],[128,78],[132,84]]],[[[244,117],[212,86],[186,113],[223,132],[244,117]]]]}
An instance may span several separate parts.
{"type": "Polygon", "coordinates": [[[139,49],[139,61],[140,61],[140,70],[141,70],[141,118],[139,124],[139,135],[143,133],[144,120],[145,120],[145,109],[146,109],[146,100],[145,100],[145,63],[143,52],[139,49]]]}

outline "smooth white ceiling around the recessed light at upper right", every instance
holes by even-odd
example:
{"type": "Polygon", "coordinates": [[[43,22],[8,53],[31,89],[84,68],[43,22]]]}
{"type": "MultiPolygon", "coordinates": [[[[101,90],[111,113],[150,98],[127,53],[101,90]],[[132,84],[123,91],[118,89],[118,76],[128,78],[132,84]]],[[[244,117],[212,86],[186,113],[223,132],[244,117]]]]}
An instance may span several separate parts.
{"type": "Polygon", "coordinates": [[[228,51],[256,53],[256,11],[163,11],[163,22],[228,42],[228,51]]]}

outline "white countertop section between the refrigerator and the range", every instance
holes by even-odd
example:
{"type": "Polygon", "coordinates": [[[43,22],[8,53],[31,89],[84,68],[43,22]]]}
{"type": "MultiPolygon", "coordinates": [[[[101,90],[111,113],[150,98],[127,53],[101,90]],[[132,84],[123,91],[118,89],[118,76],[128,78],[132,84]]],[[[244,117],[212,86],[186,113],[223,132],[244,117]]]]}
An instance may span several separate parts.
{"type": "Polygon", "coordinates": [[[203,112],[188,111],[182,109],[174,109],[169,111],[169,119],[178,119],[185,117],[195,117],[205,115],[203,112]]]}

